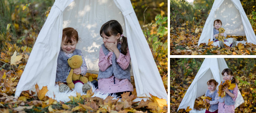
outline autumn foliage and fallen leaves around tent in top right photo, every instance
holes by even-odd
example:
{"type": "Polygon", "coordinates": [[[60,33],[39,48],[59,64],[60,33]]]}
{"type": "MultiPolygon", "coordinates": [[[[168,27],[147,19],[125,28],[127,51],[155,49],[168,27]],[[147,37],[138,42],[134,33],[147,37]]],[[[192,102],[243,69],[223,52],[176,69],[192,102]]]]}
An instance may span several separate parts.
{"type": "MultiPolygon", "coordinates": [[[[198,40],[214,1],[195,0],[193,5],[184,0],[170,1],[170,55],[256,55],[256,45],[238,43],[236,47],[212,46],[213,41],[198,40]]],[[[255,1],[241,1],[246,15],[256,32],[255,1]]],[[[246,41],[245,36],[227,36],[237,41],[246,41]]]]}

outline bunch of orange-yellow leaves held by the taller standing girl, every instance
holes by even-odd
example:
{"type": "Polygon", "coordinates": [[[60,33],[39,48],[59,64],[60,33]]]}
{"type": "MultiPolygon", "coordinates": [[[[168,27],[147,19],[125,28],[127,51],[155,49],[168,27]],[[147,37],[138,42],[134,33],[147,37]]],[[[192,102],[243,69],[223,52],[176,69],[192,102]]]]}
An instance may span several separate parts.
{"type": "Polygon", "coordinates": [[[229,90],[233,90],[236,87],[236,84],[231,84],[231,80],[230,81],[226,80],[224,83],[222,83],[221,81],[221,84],[219,85],[219,92],[218,92],[221,98],[226,96],[226,92],[223,91],[224,87],[228,87],[229,90]]]}

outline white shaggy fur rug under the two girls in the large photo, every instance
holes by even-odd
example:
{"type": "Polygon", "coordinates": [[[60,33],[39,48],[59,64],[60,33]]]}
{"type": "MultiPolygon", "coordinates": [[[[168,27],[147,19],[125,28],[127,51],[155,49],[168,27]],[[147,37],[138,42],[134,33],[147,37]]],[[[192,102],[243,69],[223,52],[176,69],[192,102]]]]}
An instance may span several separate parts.
{"type": "MultiPolygon", "coordinates": [[[[91,83],[91,82],[88,82],[88,84],[90,84],[92,86],[92,91],[94,92],[94,95],[92,97],[99,97],[99,98],[102,98],[102,99],[106,99],[106,97],[109,96],[109,93],[104,93],[104,92],[101,92],[99,90],[96,90],[96,88],[94,87],[94,85],[91,83]]],[[[46,93],[46,96],[50,97],[50,98],[53,98],[55,99],[57,102],[69,102],[70,101],[70,98],[69,96],[77,96],[76,94],[76,91],[75,90],[72,90],[72,91],[66,91],[66,92],[59,92],[59,85],[55,85],[54,87],[48,87],[48,92],[46,93]],[[55,97],[54,97],[55,95],[55,97]]],[[[86,93],[83,93],[81,95],[86,95],[86,93]]],[[[117,95],[112,95],[113,100],[114,99],[118,99],[117,95]]],[[[144,100],[146,101],[148,98],[136,98],[133,100],[133,102],[140,102],[141,100],[144,100]]],[[[119,99],[119,101],[121,101],[119,99]]]]}

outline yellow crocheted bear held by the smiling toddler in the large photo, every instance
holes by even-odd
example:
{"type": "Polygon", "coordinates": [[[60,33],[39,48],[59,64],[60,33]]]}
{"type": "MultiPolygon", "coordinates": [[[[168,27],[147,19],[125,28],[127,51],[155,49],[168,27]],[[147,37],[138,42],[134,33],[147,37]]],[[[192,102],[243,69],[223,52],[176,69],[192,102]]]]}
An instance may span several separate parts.
{"type": "Polygon", "coordinates": [[[68,65],[71,67],[71,70],[69,72],[69,75],[67,77],[67,83],[70,89],[73,89],[75,87],[72,80],[80,80],[83,83],[87,83],[88,79],[86,77],[82,77],[81,74],[73,73],[73,69],[80,68],[83,64],[82,56],[74,55],[71,58],[68,59],[68,65]]]}

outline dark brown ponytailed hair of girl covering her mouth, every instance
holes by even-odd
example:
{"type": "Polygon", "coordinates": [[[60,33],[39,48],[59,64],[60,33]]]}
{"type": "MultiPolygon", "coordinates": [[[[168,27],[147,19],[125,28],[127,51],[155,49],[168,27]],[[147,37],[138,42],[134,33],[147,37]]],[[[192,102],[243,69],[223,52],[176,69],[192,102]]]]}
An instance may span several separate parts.
{"type": "MultiPolygon", "coordinates": [[[[121,35],[123,34],[123,29],[121,24],[116,21],[116,20],[110,20],[106,23],[104,23],[101,28],[100,28],[100,36],[102,37],[101,33],[104,33],[106,36],[111,36],[111,35],[118,35],[118,33],[121,35]]],[[[122,37],[122,44],[121,44],[121,53],[126,55],[127,53],[127,37],[123,36],[122,37]]]]}

